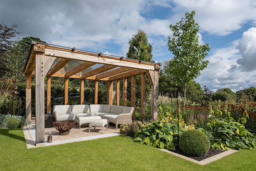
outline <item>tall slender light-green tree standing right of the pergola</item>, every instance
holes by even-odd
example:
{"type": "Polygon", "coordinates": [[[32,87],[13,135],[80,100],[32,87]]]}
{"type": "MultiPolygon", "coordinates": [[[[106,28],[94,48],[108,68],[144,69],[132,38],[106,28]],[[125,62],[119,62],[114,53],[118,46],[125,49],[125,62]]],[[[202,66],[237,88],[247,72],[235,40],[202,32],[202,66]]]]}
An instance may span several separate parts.
{"type": "Polygon", "coordinates": [[[186,84],[200,75],[208,60],[204,60],[210,47],[209,44],[199,45],[197,35],[199,25],[195,22],[196,12],[186,12],[175,25],[170,24],[173,37],[168,37],[168,47],[173,53],[173,59],[169,61],[169,75],[176,84],[184,85],[184,105],[186,101],[186,84]]]}

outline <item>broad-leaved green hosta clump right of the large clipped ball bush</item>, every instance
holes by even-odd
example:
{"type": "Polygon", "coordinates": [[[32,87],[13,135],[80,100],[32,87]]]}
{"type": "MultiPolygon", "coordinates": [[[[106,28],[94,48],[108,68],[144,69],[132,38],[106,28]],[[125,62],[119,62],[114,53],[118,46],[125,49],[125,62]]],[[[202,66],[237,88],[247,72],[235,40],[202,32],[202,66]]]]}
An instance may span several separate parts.
{"type": "Polygon", "coordinates": [[[203,129],[211,133],[213,142],[211,147],[213,149],[252,149],[255,148],[256,136],[250,133],[244,126],[248,113],[244,113],[242,118],[236,122],[229,112],[229,108],[226,105],[224,111],[220,110],[220,106],[217,110],[213,110],[210,105],[210,116],[213,117],[211,123],[207,123],[203,129]]]}

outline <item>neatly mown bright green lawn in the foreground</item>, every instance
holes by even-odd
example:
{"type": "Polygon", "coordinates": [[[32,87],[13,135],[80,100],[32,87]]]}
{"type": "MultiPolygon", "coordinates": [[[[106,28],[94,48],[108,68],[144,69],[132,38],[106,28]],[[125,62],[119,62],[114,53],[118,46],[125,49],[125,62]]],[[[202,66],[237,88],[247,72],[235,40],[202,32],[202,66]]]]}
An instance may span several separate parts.
{"type": "Polygon", "coordinates": [[[27,149],[21,129],[0,130],[0,170],[256,170],[256,149],[201,166],[117,136],[27,149]]]}

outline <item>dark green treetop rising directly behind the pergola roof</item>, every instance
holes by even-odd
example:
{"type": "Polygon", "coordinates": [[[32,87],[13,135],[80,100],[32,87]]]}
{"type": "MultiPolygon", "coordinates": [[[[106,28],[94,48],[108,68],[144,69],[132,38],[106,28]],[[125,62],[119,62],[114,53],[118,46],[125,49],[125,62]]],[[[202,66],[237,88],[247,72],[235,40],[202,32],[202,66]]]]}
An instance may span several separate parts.
{"type": "Polygon", "coordinates": [[[130,47],[126,53],[127,58],[152,61],[152,46],[148,43],[147,34],[143,30],[138,29],[138,32],[132,35],[128,44],[130,47]]]}

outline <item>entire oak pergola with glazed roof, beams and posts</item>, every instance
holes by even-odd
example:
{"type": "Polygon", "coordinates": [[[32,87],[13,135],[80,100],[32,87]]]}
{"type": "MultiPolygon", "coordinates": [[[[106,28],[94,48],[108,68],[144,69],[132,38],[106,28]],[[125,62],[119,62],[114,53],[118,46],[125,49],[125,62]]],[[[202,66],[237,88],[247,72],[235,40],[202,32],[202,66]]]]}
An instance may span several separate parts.
{"type": "MultiPolygon", "coordinates": [[[[123,106],[126,106],[127,78],[132,77],[132,107],[135,107],[135,75],[141,74],[141,113],[145,114],[145,78],[151,82],[151,116],[158,115],[160,65],[102,53],[76,50],[52,44],[31,42],[24,67],[26,74],[26,119],[31,121],[31,75],[35,74],[36,143],[44,143],[44,78],[47,76],[47,113],[51,106],[51,76],[64,77],[64,104],[68,105],[68,78],[81,82],[80,103],[84,102],[84,80],[95,80],[94,103],[98,103],[98,80],[107,81],[107,104],[112,105],[113,81],[116,81],[116,105],[119,105],[120,79],[123,79],[123,106]]],[[[134,119],[134,115],[133,115],[134,119]]]]}

